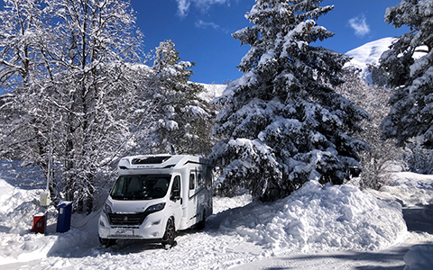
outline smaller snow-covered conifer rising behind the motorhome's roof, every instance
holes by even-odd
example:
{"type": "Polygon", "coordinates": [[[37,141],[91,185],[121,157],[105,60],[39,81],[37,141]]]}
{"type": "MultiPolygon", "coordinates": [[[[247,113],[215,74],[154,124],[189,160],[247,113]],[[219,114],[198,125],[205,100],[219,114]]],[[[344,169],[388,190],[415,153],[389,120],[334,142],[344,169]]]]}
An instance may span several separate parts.
{"type": "Polygon", "coordinates": [[[208,103],[198,97],[204,87],[189,81],[194,63],[180,61],[172,40],[162,41],[155,54],[152,92],[158,108],[151,151],[170,152],[172,145],[178,153],[207,156],[211,146],[212,113],[208,103]]]}

